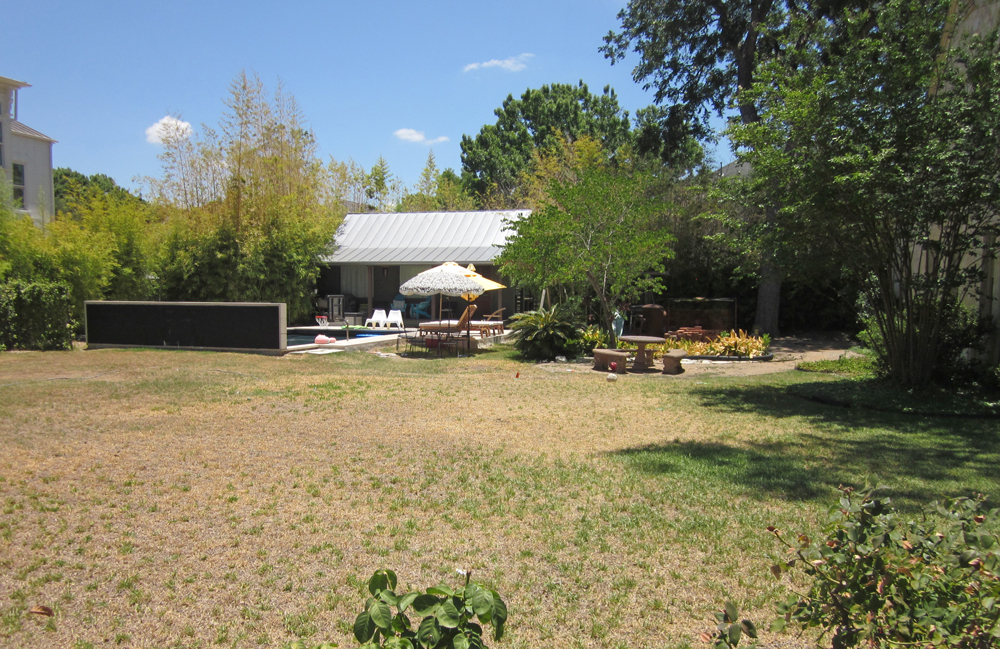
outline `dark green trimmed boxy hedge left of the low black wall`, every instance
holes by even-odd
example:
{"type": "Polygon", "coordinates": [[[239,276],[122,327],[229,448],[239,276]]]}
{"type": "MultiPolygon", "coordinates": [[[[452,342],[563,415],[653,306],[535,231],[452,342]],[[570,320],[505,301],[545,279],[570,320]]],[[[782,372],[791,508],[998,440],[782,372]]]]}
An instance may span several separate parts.
{"type": "Polygon", "coordinates": [[[71,349],[70,287],[11,280],[0,284],[0,349],[71,349]]]}

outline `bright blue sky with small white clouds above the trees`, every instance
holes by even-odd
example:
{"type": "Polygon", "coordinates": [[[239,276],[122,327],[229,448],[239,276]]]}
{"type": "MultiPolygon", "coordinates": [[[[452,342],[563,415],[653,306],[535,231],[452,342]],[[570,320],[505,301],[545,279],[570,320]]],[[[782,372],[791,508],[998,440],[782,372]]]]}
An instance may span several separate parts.
{"type": "MultiPolygon", "coordinates": [[[[216,125],[242,69],[271,90],[283,82],[324,159],[368,169],[382,155],[412,185],[430,148],[439,167],[459,171],[462,135],[493,123],[508,94],[582,79],[595,93],[611,85],[631,115],[652,103],[632,81],[634,59],[611,66],[598,52],[623,6],[5,0],[16,20],[0,76],[32,85],[20,120],[58,140],[56,167],[127,187],[160,173],[146,130],[168,114],[216,125]]],[[[725,148],[716,157],[731,158],[725,148]]]]}

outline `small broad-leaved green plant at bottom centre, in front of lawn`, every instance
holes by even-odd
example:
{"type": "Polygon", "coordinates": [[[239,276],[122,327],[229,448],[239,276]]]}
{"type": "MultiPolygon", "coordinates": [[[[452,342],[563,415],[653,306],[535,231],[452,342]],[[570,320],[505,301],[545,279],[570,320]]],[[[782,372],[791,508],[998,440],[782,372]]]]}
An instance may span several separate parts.
{"type": "MultiPolygon", "coordinates": [[[[486,624],[493,625],[493,637],[499,641],[507,622],[507,605],[495,590],[472,581],[470,572],[463,574],[465,584],[458,589],[439,584],[424,593],[397,595],[396,573],[376,570],[368,580],[371,597],[354,621],[354,636],[362,649],[487,649],[482,626],[486,624]],[[395,614],[392,607],[396,608],[395,614]],[[423,618],[416,630],[407,611],[423,618]]],[[[299,642],[292,649],[306,647],[299,642]]]]}

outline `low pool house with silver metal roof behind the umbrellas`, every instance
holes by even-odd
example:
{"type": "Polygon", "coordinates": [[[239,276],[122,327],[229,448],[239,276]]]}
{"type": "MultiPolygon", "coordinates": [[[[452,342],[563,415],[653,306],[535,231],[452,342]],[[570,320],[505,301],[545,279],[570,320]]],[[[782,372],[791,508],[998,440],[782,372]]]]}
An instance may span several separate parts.
{"type": "MultiPolygon", "coordinates": [[[[446,261],[473,264],[485,277],[507,284],[493,262],[507,241],[507,224],[529,213],[485,210],[348,214],[337,231],[336,251],[324,260],[327,265],[317,282],[320,302],[327,295],[346,295],[347,310],[367,317],[374,309],[388,309],[403,282],[446,261]]],[[[516,298],[512,289],[488,291],[476,300],[476,305],[481,314],[506,308],[504,315],[509,317],[515,312],[516,298]]],[[[462,305],[464,302],[454,306],[457,309],[462,305]]],[[[447,311],[444,315],[447,317],[447,311]]]]}

